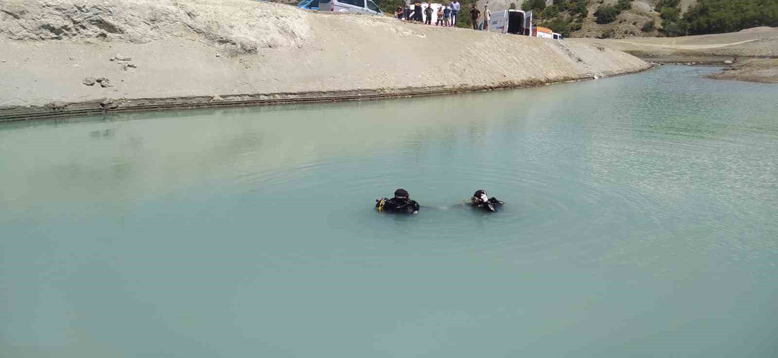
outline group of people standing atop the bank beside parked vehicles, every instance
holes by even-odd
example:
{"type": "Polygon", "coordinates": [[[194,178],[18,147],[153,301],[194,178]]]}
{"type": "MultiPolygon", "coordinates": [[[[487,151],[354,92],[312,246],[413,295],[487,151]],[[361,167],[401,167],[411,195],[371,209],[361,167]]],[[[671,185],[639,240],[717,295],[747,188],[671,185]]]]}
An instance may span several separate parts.
{"type": "MultiPolygon", "coordinates": [[[[433,13],[436,12],[433,9],[432,4],[427,1],[425,5],[422,5],[420,0],[416,0],[411,9],[411,1],[405,0],[405,8],[398,6],[397,11],[394,13],[398,19],[405,19],[408,21],[418,21],[419,23],[426,23],[432,25],[433,13]],[[422,16],[423,13],[423,16],[422,16]]],[[[457,26],[457,16],[461,11],[459,2],[445,3],[443,6],[437,9],[435,26],[457,26]]],[[[473,5],[470,10],[470,19],[473,25],[473,30],[489,30],[489,20],[492,18],[492,12],[484,6],[483,12],[478,10],[473,5]]]]}

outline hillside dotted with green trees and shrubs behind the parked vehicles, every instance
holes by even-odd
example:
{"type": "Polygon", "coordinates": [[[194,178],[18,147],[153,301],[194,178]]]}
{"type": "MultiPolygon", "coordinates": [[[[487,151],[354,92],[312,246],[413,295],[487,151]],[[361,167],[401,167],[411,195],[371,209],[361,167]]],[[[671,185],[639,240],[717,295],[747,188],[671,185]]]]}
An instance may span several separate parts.
{"type": "MultiPolygon", "coordinates": [[[[405,3],[374,1],[387,16],[405,3]]],[[[481,10],[488,5],[492,12],[532,11],[536,24],[566,37],[686,36],[778,26],[778,0],[461,0],[458,27],[471,27],[470,9],[474,4],[481,10]]]]}

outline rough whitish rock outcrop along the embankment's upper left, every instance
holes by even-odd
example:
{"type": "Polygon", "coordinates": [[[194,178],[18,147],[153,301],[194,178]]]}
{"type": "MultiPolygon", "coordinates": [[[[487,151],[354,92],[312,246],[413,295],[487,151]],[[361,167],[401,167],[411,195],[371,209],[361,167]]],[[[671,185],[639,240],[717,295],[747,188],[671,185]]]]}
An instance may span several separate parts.
{"type": "Polygon", "coordinates": [[[0,33],[12,40],[148,43],[197,34],[235,53],[289,47],[310,36],[302,12],[247,1],[4,0],[0,33]],[[229,14],[229,16],[228,16],[229,14]]]}

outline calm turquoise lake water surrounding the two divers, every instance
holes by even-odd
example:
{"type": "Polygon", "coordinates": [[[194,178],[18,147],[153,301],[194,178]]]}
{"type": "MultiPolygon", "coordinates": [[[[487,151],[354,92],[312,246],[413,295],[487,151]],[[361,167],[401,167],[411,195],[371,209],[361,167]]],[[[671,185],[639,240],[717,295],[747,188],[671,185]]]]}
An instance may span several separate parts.
{"type": "Polygon", "coordinates": [[[0,124],[0,356],[774,358],[778,85],[715,71],[0,124]]]}

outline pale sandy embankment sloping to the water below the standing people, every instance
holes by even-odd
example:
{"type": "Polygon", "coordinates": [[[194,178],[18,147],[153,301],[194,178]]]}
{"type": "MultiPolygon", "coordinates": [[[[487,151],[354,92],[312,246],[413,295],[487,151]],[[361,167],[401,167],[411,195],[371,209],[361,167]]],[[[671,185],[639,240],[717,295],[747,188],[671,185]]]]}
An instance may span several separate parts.
{"type": "Polygon", "coordinates": [[[0,119],[429,95],[650,68],[587,43],[253,0],[4,0],[0,119]]]}

